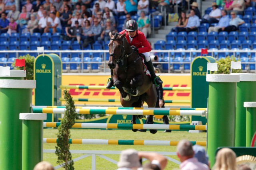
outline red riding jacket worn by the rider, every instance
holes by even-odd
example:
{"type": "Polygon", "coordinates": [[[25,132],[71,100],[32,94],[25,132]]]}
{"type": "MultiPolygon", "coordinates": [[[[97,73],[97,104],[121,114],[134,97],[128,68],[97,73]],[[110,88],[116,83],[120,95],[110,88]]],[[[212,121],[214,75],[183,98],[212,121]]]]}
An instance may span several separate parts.
{"type": "MultiPolygon", "coordinates": [[[[125,31],[126,30],[121,31],[120,34],[123,34],[125,31]]],[[[142,33],[141,31],[137,30],[137,34],[135,35],[135,37],[133,37],[132,42],[130,42],[130,38],[127,31],[125,37],[130,46],[134,45],[138,48],[139,53],[146,53],[151,51],[151,46],[148,43],[148,40],[146,39],[144,33],[142,33]]]]}

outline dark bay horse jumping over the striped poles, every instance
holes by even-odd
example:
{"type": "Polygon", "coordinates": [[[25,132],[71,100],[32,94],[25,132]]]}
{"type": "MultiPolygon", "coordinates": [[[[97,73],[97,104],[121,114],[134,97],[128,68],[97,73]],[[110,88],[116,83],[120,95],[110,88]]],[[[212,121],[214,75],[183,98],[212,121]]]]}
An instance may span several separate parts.
{"type": "MultiPolygon", "coordinates": [[[[109,61],[108,66],[113,69],[113,82],[120,92],[120,102],[123,107],[142,107],[144,102],[148,107],[156,106],[156,88],[151,78],[144,72],[144,64],[138,53],[134,52],[123,35],[109,33],[109,61]]],[[[144,115],[132,115],[132,124],[136,118],[144,115]]],[[[150,115],[148,124],[153,124],[153,115],[150,115]]],[[[138,129],[132,129],[136,132],[138,129]]],[[[150,133],[157,130],[150,129],[150,133]]]]}

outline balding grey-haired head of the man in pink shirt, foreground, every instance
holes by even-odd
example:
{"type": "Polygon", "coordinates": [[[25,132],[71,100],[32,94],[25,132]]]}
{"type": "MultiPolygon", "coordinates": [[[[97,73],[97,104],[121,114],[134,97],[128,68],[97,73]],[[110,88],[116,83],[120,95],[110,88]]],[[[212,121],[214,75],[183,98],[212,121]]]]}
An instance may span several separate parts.
{"type": "Polygon", "coordinates": [[[192,158],[194,156],[194,150],[192,148],[192,144],[190,141],[181,140],[177,145],[177,155],[180,160],[183,162],[188,158],[192,158]]]}

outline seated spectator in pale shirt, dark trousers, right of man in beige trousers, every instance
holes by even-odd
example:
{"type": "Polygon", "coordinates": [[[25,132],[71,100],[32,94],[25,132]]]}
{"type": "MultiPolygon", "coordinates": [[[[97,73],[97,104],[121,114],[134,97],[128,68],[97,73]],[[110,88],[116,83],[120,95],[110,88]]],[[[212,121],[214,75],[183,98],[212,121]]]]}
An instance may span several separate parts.
{"type": "Polygon", "coordinates": [[[244,23],[244,20],[236,17],[236,12],[231,12],[231,20],[229,22],[229,26],[227,27],[222,27],[219,29],[220,31],[227,31],[228,33],[230,33],[231,31],[236,31],[238,28],[238,25],[242,25],[244,23]]]}

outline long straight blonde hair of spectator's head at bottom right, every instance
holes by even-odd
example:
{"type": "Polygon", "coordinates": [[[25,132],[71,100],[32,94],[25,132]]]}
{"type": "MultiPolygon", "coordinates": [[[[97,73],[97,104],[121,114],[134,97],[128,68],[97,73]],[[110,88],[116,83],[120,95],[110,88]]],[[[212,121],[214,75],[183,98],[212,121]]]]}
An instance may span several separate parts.
{"type": "Polygon", "coordinates": [[[217,152],[213,170],[237,170],[236,154],[232,149],[223,148],[217,152]]]}

